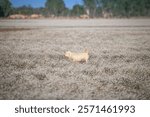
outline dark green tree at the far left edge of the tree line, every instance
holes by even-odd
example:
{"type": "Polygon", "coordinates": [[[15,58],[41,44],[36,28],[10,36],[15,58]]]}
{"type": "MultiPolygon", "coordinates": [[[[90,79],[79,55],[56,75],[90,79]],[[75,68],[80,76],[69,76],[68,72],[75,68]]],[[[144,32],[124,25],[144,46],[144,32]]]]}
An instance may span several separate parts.
{"type": "Polygon", "coordinates": [[[7,17],[11,12],[11,3],[9,0],[0,0],[0,17],[7,17]]]}

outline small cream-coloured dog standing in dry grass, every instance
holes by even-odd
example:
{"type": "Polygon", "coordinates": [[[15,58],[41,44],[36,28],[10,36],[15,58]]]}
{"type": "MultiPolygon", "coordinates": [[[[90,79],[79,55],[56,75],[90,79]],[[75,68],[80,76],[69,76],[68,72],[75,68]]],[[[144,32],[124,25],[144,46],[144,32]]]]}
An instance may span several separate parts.
{"type": "Polygon", "coordinates": [[[67,57],[68,59],[74,62],[86,62],[87,63],[89,59],[89,52],[87,49],[82,53],[74,53],[71,51],[67,51],[65,52],[65,57],[67,57]]]}

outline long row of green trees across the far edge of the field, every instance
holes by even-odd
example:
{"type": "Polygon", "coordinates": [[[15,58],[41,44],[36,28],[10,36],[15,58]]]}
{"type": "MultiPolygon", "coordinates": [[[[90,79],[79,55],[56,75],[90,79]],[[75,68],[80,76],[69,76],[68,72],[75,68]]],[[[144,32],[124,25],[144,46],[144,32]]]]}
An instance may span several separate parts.
{"type": "Polygon", "coordinates": [[[150,16],[150,0],[82,0],[83,5],[75,4],[72,9],[63,0],[47,0],[45,7],[12,7],[10,0],[0,0],[0,17],[11,14],[42,14],[43,16],[89,17],[133,17],[150,16]]]}

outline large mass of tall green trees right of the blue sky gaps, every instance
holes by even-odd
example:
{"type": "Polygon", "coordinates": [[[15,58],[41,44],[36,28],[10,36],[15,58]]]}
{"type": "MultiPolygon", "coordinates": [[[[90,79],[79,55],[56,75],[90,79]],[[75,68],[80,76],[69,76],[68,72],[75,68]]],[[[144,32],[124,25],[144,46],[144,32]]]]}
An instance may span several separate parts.
{"type": "Polygon", "coordinates": [[[102,11],[120,17],[150,16],[150,0],[83,0],[83,3],[90,16],[100,16],[102,11]]]}

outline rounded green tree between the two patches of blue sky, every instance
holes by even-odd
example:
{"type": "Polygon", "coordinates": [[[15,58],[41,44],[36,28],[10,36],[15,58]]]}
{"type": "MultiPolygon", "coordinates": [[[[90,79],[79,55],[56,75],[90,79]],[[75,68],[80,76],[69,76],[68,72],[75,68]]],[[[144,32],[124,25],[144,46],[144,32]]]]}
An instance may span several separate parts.
{"type": "Polygon", "coordinates": [[[60,16],[64,14],[65,3],[63,0],[47,0],[45,7],[50,14],[60,16]]]}

